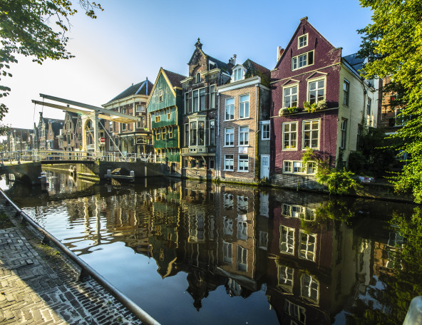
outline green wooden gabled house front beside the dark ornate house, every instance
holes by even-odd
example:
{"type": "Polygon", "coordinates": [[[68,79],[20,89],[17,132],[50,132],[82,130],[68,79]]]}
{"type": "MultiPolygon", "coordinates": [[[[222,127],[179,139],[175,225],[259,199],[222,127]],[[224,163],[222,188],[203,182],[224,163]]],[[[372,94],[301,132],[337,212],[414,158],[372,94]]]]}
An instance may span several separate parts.
{"type": "Polygon", "coordinates": [[[153,146],[158,160],[168,165],[171,173],[180,174],[182,123],[182,84],[178,73],[160,68],[147,103],[151,115],[153,146]]]}

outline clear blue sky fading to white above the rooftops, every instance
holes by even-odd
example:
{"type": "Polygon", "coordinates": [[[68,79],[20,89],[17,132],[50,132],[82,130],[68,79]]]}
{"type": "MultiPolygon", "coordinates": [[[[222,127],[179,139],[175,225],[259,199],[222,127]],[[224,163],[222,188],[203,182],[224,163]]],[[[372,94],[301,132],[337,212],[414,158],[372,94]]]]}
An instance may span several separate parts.
{"type": "Polygon", "coordinates": [[[202,50],[221,61],[237,54],[237,63],[251,58],[272,69],[277,46],[287,46],[304,16],[344,56],[359,50],[356,30],[371,22],[371,11],[357,0],[99,2],[98,19],[81,10],[71,18],[68,50],[76,58],[42,66],[19,58],[11,66],[13,78],[2,80],[12,88],[2,98],[10,108],[4,123],[32,128],[41,110],[64,118],[60,110],[34,106],[39,93],[101,105],[145,77],[154,83],[161,66],[186,75],[198,37],[202,50]]]}

